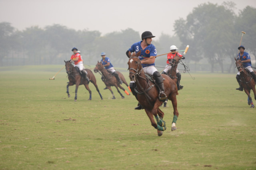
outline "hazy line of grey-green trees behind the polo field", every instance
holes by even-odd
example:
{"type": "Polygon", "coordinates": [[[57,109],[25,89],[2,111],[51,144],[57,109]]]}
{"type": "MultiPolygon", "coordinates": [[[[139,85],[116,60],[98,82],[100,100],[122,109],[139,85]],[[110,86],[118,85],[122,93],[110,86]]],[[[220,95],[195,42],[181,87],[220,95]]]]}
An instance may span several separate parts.
{"type": "MultiPolygon", "coordinates": [[[[244,31],[242,45],[255,61],[256,8],[246,6],[236,14],[235,6],[234,2],[198,5],[186,19],[175,20],[174,35],[162,33],[153,39],[158,55],[168,53],[171,45],[179,49],[190,45],[185,61],[192,70],[235,72],[234,57],[244,31]]],[[[0,66],[64,64],[72,55],[72,47],[77,47],[84,64],[96,64],[100,53],[105,52],[115,67],[126,68],[125,52],[140,39],[139,32],[131,28],[102,36],[99,31],[76,31],[59,24],[19,31],[11,23],[1,22],[0,66]]],[[[156,66],[165,66],[165,62],[165,56],[158,57],[156,66]]]]}

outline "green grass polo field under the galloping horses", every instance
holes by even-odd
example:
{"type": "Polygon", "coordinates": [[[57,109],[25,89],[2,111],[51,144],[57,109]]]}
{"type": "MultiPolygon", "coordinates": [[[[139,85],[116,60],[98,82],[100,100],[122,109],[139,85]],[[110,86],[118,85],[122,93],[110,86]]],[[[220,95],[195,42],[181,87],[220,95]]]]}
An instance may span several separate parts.
{"type": "MultiPolygon", "coordinates": [[[[256,108],[235,90],[234,74],[182,73],[178,129],[171,102],[161,107],[158,137],[134,96],[116,100],[94,74],[92,100],[80,86],[66,94],[66,72],[53,66],[0,68],[0,169],[246,170],[256,169],[256,108]]],[[[120,69],[118,69],[120,70],[120,69]]],[[[127,82],[127,68],[122,70],[127,82]]],[[[128,90],[128,88],[123,85],[128,90]]],[[[252,98],[254,96],[252,95],[252,98]]],[[[254,100],[255,101],[255,100],[254,100]]]]}

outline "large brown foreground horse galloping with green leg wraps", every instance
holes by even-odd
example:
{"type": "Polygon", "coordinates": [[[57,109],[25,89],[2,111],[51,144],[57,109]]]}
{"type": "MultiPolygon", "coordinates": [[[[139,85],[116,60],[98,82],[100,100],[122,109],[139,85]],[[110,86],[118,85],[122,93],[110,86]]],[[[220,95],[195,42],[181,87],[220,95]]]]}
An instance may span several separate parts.
{"type": "MultiPolygon", "coordinates": [[[[158,98],[158,88],[156,88],[156,85],[145,75],[140,63],[140,59],[138,58],[139,55],[140,51],[136,55],[133,53],[128,61],[128,70],[130,71],[129,77],[131,81],[135,81],[136,83],[138,101],[142,107],[144,107],[151,121],[151,125],[157,129],[158,136],[161,136],[163,133],[162,131],[166,130],[165,121],[162,120],[164,117],[164,112],[159,109],[163,102],[158,98]],[[157,123],[154,121],[154,117],[156,118],[157,123]]],[[[162,77],[164,78],[165,94],[167,98],[172,101],[172,106],[174,109],[174,117],[172,121],[172,131],[174,131],[177,129],[176,121],[179,115],[176,99],[176,95],[178,95],[178,89],[176,82],[174,82],[174,80],[172,80],[169,76],[162,74],[162,77]]]]}

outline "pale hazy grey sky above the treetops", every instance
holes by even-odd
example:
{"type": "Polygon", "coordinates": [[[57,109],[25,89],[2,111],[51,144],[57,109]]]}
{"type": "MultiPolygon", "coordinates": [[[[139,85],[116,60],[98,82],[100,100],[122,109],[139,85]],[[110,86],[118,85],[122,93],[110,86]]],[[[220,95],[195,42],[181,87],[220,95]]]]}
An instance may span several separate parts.
{"type": "MultiPolygon", "coordinates": [[[[230,0],[236,13],[256,0],[230,0]]],[[[102,35],[132,28],[173,35],[175,20],[184,18],[199,4],[221,5],[224,0],[0,0],[0,22],[18,30],[60,24],[68,28],[98,30],[102,35]]]]}

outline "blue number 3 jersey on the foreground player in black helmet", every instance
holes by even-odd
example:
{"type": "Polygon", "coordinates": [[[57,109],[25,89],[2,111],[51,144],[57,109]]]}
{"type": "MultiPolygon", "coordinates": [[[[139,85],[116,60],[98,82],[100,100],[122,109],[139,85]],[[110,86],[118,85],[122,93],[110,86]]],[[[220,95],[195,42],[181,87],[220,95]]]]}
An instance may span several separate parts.
{"type": "MultiPolygon", "coordinates": [[[[141,42],[134,43],[130,48],[129,51],[131,53],[136,52],[138,53],[140,50],[140,56],[138,57],[140,60],[148,59],[150,56],[156,56],[156,47],[153,44],[148,45],[144,50],[141,47],[141,42]]],[[[146,66],[155,66],[155,63],[152,64],[142,64],[142,67],[146,66]]]]}

